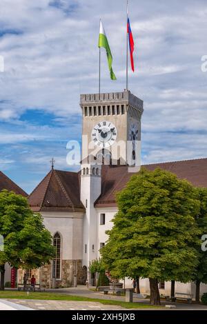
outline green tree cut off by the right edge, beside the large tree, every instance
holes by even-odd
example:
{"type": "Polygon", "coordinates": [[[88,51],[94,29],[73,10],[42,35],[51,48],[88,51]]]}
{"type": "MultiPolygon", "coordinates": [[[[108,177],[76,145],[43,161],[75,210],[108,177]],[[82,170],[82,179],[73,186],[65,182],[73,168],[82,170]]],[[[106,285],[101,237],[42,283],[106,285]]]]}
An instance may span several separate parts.
{"type": "MultiPolygon", "coordinates": [[[[202,235],[207,234],[207,189],[199,188],[198,193],[201,207],[196,221],[199,229],[201,230],[201,234],[199,234],[199,239],[201,239],[202,235]]],[[[195,276],[193,277],[193,280],[195,280],[196,284],[195,299],[198,303],[200,301],[200,285],[201,283],[207,283],[207,251],[201,250],[201,243],[197,246],[199,264],[197,266],[195,276]]]]}

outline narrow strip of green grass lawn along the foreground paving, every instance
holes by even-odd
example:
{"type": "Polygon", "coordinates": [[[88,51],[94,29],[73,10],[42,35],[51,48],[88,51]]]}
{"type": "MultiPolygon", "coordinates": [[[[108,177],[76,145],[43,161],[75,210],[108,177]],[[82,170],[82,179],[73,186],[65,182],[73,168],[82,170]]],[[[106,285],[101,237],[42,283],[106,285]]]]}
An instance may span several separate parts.
{"type": "Polygon", "coordinates": [[[81,296],[70,296],[63,294],[55,294],[53,292],[0,292],[0,298],[8,299],[39,299],[47,301],[95,301],[103,305],[119,305],[124,308],[157,308],[160,306],[144,305],[141,303],[126,303],[125,301],[110,301],[106,299],[87,298],[81,296]]]}

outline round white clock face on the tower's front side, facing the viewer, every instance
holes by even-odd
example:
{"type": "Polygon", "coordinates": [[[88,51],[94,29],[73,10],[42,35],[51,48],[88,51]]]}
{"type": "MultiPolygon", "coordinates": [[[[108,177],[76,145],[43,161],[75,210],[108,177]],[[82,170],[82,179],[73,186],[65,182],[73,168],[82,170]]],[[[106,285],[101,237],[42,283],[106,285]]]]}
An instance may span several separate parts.
{"type": "Polygon", "coordinates": [[[93,128],[91,137],[99,148],[108,148],[117,139],[117,129],[110,121],[100,121],[93,128]]]}

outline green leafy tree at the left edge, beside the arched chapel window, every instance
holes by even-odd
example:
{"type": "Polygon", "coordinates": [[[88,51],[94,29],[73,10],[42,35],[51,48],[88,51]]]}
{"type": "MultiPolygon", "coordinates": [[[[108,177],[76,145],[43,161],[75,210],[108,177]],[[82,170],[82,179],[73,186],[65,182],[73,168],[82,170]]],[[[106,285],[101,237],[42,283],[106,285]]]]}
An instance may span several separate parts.
{"type": "Polygon", "coordinates": [[[52,236],[43,225],[40,214],[34,214],[21,195],[0,192],[0,251],[1,290],[4,289],[5,263],[12,267],[37,268],[50,263],[55,250],[52,236]]]}

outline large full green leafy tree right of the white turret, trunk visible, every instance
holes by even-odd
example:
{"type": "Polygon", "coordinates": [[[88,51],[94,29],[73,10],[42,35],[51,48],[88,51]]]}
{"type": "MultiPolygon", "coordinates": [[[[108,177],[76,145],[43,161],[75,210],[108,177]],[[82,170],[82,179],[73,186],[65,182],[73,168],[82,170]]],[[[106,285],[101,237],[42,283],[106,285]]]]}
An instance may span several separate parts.
{"type": "Polygon", "coordinates": [[[175,174],[142,169],[117,194],[119,211],[101,249],[112,276],[150,281],[150,303],[160,304],[158,281],[188,282],[197,266],[197,190],[175,174]]]}

